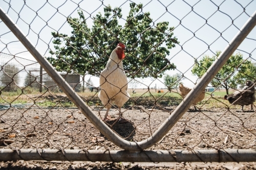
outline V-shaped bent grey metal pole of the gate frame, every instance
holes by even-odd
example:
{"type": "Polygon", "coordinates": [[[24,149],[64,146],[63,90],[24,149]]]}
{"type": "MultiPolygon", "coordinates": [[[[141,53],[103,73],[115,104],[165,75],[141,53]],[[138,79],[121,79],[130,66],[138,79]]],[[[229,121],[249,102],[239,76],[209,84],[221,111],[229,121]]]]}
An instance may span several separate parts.
{"type": "Polygon", "coordinates": [[[156,142],[158,142],[172,127],[178,122],[180,117],[187,111],[194,100],[204,91],[205,87],[214,78],[221,67],[226,63],[232,53],[237,49],[245,37],[256,25],[256,11],[246,21],[241,31],[231,40],[230,44],[221,53],[218,59],[211,65],[206,71],[204,76],[200,79],[199,83],[192,89],[186,96],[186,98],[180,103],[175,111],[165,120],[161,127],[149,138],[140,141],[138,143],[124,140],[106,126],[102,120],[93,113],[93,111],[84,103],[81,98],[74,92],[74,90],[68,85],[68,83],[58,74],[54,67],[44,58],[26,36],[17,28],[15,23],[9,18],[9,16],[0,7],[0,18],[4,21],[6,26],[13,32],[13,34],[23,43],[27,50],[35,57],[38,63],[47,71],[47,73],[54,78],[56,84],[67,94],[69,99],[86,115],[91,123],[99,129],[99,131],[106,136],[110,141],[115,143],[118,147],[125,150],[139,151],[141,149],[150,148],[156,142]]]}

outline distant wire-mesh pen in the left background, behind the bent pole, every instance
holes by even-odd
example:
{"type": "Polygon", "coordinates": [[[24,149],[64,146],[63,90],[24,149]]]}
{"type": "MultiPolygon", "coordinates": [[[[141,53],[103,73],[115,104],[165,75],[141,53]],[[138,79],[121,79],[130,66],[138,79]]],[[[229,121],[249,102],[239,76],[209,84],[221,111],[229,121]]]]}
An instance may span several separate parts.
{"type": "MultiPolygon", "coordinates": [[[[48,88],[51,91],[59,92],[60,88],[56,86],[56,83],[47,74],[47,72],[40,67],[38,62],[5,53],[0,53],[0,56],[0,65],[2,66],[1,86],[3,87],[3,91],[17,91],[20,88],[26,87],[24,89],[28,93],[32,93],[33,90],[42,92],[42,90],[46,90],[48,88]]],[[[79,75],[67,74],[65,71],[59,72],[59,74],[69,83],[70,86],[76,87],[75,91],[84,91],[84,88],[82,88],[80,84],[79,75]]]]}

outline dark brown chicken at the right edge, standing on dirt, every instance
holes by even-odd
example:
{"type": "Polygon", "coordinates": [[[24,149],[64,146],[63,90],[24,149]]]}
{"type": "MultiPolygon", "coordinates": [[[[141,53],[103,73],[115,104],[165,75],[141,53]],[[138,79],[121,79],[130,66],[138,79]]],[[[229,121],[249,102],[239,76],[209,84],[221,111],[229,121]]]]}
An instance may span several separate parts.
{"type": "Polygon", "coordinates": [[[253,111],[253,102],[255,102],[255,84],[250,80],[246,81],[246,86],[241,91],[235,91],[233,94],[224,95],[224,100],[228,100],[230,104],[242,106],[241,111],[244,111],[244,105],[251,105],[253,111]]]}

